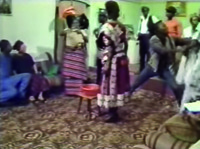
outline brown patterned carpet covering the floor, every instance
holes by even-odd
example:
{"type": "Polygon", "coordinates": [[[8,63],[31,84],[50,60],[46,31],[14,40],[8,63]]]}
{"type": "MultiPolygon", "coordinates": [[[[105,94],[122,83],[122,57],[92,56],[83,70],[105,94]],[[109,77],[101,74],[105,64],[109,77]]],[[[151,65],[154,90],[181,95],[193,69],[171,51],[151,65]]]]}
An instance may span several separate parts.
{"type": "Polygon", "coordinates": [[[78,101],[60,96],[38,106],[0,108],[0,149],[132,149],[177,111],[172,97],[142,90],[120,108],[121,122],[106,124],[95,112],[87,120],[86,103],[77,114],[78,101]]]}

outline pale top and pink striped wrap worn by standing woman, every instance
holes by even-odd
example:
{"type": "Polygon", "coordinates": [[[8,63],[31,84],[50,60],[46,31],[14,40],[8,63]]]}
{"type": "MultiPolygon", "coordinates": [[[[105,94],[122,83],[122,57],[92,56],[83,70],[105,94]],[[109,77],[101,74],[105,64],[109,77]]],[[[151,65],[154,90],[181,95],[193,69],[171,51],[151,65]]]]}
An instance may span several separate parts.
{"type": "Polygon", "coordinates": [[[67,33],[63,55],[62,75],[66,95],[78,95],[83,82],[87,79],[86,46],[83,40],[78,39],[79,37],[74,40],[73,34],[73,31],[67,33]]]}

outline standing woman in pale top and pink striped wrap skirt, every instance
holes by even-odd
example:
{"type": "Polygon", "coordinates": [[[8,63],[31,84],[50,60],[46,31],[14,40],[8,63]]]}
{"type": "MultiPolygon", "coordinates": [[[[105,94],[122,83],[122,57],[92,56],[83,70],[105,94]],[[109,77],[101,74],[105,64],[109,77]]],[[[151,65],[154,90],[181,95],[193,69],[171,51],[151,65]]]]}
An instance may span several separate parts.
{"type": "Polygon", "coordinates": [[[62,68],[66,95],[78,95],[81,85],[87,80],[87,35],[81,29],[79,19],[69,12],[66,16],[68,28],[61,33],[66,38],[62,68]]]}

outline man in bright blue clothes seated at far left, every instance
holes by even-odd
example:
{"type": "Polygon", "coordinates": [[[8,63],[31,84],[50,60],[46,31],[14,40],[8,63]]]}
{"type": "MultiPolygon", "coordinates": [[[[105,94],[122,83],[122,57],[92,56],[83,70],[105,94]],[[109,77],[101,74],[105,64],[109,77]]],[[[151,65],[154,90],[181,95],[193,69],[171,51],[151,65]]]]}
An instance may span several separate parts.
{"type": "Polygon", "coordinates": [[[28,73],[12,75],[11,44],[7,40],[0,41],[0,103],[18,103],[25,99],[31,75],[28,73]],[[14,100],[15,101],[14,101],[14,100]],[[13,101],[12,101],[13,100],[13,101]]]}

